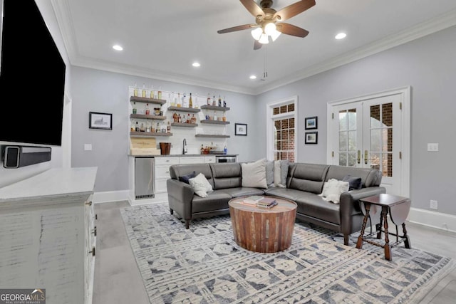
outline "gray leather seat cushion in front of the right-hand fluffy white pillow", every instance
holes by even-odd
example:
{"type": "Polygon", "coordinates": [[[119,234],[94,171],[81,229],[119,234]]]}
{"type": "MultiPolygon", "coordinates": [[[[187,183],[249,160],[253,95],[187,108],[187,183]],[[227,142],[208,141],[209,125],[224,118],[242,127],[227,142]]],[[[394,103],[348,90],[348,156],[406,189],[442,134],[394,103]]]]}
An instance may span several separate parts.
{"type": "Polygon", "coordinates": [[[309,192],[301,192],[301,196],[295,201],[298,204],[297,213],[306,214],[306,216],[312,216],[333,224],[341,224],[339,204],[325,201],[321,196],[309,192]]]}

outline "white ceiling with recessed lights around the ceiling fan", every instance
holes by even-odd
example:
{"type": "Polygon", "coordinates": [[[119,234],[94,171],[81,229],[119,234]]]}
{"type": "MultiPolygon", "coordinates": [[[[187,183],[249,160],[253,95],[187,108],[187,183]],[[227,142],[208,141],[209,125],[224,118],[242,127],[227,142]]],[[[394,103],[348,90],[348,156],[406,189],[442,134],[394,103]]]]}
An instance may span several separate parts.
{"type": "Polygon", "coordinates": [[[455,0],[316,0],[286,21],[309,36],[281,35],[254,51],[249,30],[217,33],[254,23],[238,0],[51,1],[73,65],[249,94],[456,25],[455,0]],[[340,31],[348,36],[337,41],[340,31]],[[115,43],[124,51],[114,51],[115,43]],[[266,54],[268,77],[261,80],[266,54]]]}

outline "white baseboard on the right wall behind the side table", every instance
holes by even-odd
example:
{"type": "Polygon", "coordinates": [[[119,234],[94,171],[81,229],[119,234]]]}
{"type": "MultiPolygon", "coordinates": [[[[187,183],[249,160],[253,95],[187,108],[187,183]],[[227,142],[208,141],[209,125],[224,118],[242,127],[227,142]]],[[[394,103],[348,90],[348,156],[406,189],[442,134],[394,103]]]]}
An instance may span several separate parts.
{"type": "Polygon", "coordinates": [[[408,221],[445,231],[456,232],[456,216],[452,214],[410,208],[408,221]]]}

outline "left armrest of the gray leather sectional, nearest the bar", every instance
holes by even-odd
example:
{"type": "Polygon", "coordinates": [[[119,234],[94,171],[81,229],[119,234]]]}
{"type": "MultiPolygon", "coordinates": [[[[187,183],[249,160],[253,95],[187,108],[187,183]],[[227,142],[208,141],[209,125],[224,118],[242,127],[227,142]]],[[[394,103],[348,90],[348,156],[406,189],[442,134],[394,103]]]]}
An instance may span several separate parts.
{"type": "Polygon", "coordinates": [[[167,179],[168,204],[185,220],[192,219],[192,200],[195,192],[190,184],[177,179],[167,179]]]}

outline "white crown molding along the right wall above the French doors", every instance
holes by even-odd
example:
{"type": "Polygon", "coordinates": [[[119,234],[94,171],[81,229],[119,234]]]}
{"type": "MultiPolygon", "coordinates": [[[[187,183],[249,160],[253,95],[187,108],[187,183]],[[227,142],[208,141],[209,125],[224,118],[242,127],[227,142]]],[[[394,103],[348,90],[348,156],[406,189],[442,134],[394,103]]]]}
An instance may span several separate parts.
{"type": "Polygon", "coordinates": [[[325,72],[326,70],[338,68],[341,65],[346,65],[347,63],[358,61],[359,59],[366,58],[368,56],[374,55],[375,53],[386,51],[390,48],[394,48],[395,46],[400,46],[401,44],[408,43],[415,39],[422,38],[424,36],[430,35],[431,33],[442,31],[445,28],[450,28],[451,26],[455,25],[456,10],[452,10],[433,19],[419,23],[410,28],[406,28],[403,31],[370,43],[366,46],[357,48],[356,50],[344,53],[341,56],[337,56],[322,63],[311,65],[309,68],[299,70],[296,73],[292,73],[288,76],[285,76],[284,78],[281,78],[281,80],[274,81],[268,85],[257,87],[254,90],[254,94],[259,95],[261,93],[266,93],[269,90],[280,88],[281,86],[288,85],[290,83],[296,82],[297,80],[325,72]]]}

